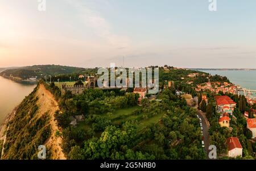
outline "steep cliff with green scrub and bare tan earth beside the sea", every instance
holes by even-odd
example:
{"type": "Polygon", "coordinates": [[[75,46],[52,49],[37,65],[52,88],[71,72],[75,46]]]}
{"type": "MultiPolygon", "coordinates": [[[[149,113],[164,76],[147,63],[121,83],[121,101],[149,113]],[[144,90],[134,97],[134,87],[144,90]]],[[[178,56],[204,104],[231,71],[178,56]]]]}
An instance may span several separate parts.
{"type": "Polygon", "coordinates": [[[66,159],[61,149],[55,112],[58,103],[46,88],[39,84],[15,110],[7,124],[2,159],[38,159],[39,145],[46,146],[47,159],[66,159]]]}

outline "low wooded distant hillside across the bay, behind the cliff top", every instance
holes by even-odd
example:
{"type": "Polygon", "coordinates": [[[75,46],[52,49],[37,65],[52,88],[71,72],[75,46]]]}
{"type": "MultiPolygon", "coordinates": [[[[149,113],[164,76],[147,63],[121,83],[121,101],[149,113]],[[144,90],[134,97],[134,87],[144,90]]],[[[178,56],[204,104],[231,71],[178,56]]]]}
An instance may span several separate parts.
{"type": "Polygon", "coordinates": [[[85,68],[61,65],[33,65],[24,66],[14,69],[6,69],[1,72],[0,76],[9,78],[14,81],[27,80],[31,77],[43,78],[46,75],[57,76],[60,74],[72,74],[85,72],[85,68]]]}

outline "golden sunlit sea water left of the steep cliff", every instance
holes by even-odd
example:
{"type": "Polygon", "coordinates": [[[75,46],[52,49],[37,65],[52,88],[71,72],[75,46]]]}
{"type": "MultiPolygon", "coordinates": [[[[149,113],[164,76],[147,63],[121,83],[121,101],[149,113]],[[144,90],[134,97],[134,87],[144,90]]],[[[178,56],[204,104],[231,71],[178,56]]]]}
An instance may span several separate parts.
{"type": "Polygon", "coordinates": [[[19,84],[0,76],[0,124],[36,85],[19,84]]]}

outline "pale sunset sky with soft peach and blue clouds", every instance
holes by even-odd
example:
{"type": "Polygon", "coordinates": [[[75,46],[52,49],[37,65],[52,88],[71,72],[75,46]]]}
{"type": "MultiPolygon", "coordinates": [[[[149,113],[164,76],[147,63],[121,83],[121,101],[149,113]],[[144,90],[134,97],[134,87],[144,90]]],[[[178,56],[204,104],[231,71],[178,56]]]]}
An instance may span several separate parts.
{"type": "Polygon", "coordinates": [[[256,1],[216,2],[0,0],[0,67],[256,68],[256,1]]]}

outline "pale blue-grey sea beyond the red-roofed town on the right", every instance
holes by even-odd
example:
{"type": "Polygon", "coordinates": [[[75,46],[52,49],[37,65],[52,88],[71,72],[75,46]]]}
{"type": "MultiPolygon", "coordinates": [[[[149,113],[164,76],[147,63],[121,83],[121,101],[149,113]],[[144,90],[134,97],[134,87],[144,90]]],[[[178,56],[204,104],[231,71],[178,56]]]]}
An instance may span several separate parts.
{"type": "Polygon", "coordinates": [[[233,84],[256,90],[256,70],[203,70],[203,72],[226,76],[233,84]]]}

